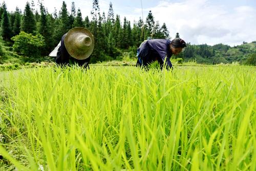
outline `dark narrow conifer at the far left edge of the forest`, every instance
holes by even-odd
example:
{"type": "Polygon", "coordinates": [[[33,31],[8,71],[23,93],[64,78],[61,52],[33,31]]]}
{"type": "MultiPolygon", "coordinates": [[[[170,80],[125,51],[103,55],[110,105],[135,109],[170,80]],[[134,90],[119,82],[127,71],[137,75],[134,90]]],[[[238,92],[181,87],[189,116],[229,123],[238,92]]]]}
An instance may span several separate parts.
{"type": "Polygon", "coordinates": [[[1,20],[0,33],[4,40],[10,41],[12,36],[12,33],[11,33],[12,30],[11,30],[10,19],[8,16],[5,2],[2,4],[2,8],[3,8],[3,14],[2,14],[2,20],[1,20]]]}

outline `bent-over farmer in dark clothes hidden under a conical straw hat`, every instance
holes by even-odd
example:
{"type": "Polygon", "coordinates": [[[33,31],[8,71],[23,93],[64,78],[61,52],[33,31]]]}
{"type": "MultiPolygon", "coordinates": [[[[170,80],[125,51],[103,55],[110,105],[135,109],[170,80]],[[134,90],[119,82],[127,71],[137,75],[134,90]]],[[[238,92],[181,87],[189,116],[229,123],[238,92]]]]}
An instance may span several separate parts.
{"type": "Polygon", "coordinates": [[[70,62],[74,62],[89,69],[93,49],[93,34],[86,28],[76,27],[62,36],[59,45],[49,56],[56,56],[55,62],[60,66],[67,66],[70,62]]]}

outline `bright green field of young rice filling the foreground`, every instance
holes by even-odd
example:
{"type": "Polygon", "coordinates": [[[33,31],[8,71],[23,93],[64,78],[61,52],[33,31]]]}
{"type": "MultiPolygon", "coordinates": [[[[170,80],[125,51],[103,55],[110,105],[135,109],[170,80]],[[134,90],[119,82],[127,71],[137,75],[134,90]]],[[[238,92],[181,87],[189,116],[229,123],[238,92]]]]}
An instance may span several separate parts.
{"type": "Polygon", "coordinates": [[[0,170],[256,170],[256,69],[40,68],[0,83],[0,170]]]}

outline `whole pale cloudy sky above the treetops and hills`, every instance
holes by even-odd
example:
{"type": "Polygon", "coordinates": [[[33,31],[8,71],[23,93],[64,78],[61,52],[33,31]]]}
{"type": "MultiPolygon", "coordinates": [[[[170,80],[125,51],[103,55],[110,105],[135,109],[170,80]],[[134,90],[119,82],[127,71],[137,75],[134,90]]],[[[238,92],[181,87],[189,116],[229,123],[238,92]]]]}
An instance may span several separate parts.
{"type": "MultiPolygon", "coordinates": [[[[8,11],[18,7],[25,8],[31,0],[5,0],[8,11]]],[[[48,12],[53,13],[54,7],[60,10],[63,0],[43,0],[48,12]]],[[[166,24],[170,36],[180,37],[191,44],[216,45],[219,43],[230,46],[241,45],[243,41],[256,40],[256,1],[255,0],[99,0],[101,12],[108,13],[112,2],[115,14],[124,16],[133,23],[142,17],[145,21],[148,11],[152,11],[160,25],[166,24]]],[[[37,0],[34,0],[37,5],[37,0]]],[[[75,2],[80,8],[83,18],[91,18],[93,0],[65,0],[67,8],[75,2]]],[[[3,0],[0,0],[3,3],[3,0]]]]}

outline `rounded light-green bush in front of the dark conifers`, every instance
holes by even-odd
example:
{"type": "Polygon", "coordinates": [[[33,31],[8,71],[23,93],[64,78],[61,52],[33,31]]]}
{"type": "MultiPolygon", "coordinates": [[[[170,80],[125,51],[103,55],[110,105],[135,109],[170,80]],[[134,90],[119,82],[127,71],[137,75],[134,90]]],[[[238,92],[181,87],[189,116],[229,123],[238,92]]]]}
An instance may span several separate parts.
{"type": "Polygon", "coordinates": [[[19,35],[12,37],[12,40],[14,41],[13,50],[28,57],[40,56],[41,48],[45,47],[45,39],[40,34],[34,36],[22,31],[19,35]]]}

